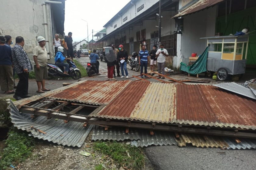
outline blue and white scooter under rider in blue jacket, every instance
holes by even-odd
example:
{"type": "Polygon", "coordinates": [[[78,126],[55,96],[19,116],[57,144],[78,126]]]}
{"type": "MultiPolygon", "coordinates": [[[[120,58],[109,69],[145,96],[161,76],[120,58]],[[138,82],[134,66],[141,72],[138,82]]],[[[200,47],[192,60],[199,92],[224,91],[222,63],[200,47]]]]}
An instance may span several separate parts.
{"type": "Polygon", "coordinates": [[[72,77],[72,79],[74,79],[74,80],[80,79],[81,78],[81,72],[76,67],[76,65],[71,60],[67,60],[67,63],[69,64],[68,74],[63,74],[64,73],[64,67],[57,66],[55,64],[47,63],[48,76],[49,77],[72,77]]]}

